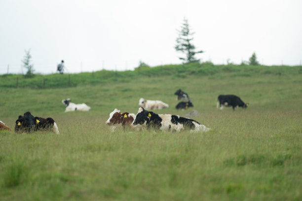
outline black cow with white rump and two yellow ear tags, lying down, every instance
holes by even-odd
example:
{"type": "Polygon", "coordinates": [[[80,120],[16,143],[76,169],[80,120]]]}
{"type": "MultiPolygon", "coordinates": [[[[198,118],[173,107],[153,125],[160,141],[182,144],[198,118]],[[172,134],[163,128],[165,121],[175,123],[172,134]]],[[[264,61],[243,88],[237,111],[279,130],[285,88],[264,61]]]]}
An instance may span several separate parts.
{"type": "Polygon", "coordinates": [[[15,132],[35,132],[35,131],[52,131],[60,134],[56,122],[48,117],[34,117],[30,112],[25,112],[24,116],[19,115],[16,120],[15,132]]]}

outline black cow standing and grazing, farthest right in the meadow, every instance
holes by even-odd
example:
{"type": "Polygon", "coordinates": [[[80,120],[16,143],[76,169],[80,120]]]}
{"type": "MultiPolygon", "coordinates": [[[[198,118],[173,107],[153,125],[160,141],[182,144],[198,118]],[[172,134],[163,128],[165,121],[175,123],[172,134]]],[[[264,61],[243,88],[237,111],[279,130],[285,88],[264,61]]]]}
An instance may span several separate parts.
{"type": "Polygon", "coordinates": [[[220,95],[217,101],[217,109],[220,107],[220,110],[224,109],[224,106],[233,107],[233,110],[237,107],[246,108],[249,103],[243,102],[239,97],[235,95],[220,95]]]}

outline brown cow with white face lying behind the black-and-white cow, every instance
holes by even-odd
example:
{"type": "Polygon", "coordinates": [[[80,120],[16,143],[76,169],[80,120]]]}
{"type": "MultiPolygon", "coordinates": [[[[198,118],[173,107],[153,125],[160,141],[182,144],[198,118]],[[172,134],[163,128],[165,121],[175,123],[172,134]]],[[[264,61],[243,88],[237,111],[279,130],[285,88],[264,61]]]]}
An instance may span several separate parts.
{"type": "Polygon", "coordinates": [[[130,126],[135,119],[135,114],[129,114],[128,112],[121,113],[120,110],[114,109],[110,113],[109,119],[106,121],[107,125],[121,124],[123,127],[130,126]]]}

